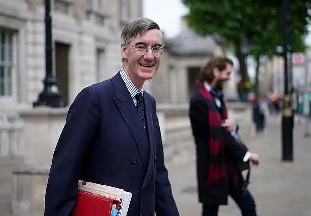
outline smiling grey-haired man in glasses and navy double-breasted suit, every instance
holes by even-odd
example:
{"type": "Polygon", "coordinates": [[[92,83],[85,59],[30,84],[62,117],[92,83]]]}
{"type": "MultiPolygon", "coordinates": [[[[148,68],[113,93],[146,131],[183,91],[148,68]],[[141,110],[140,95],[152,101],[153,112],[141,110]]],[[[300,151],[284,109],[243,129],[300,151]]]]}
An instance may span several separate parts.
{"type": "Polygon", "coordinates": [[[143,86],[158,70],[163,46],[154,21],[133,20],[121,34],[121,70],[77,95],[53,155],[45,216],[70,216],[79,179],[131,192],[127,216],[179,216],[155,99],[143,86]]]}

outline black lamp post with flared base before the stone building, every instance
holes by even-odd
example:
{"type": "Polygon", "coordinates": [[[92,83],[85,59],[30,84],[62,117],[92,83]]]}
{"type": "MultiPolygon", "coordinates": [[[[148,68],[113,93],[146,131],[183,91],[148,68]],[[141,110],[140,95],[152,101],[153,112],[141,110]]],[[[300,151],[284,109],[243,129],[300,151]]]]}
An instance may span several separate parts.
{"type": "Polygon", "coordinates": [[[62,95],[56,85],[57,79],[52,73],[52,18],[51,0],[45,0],[45,78],[44,88],[39,94],[38,100],[33,103],[33,107],[64,107],[62,95]]]}

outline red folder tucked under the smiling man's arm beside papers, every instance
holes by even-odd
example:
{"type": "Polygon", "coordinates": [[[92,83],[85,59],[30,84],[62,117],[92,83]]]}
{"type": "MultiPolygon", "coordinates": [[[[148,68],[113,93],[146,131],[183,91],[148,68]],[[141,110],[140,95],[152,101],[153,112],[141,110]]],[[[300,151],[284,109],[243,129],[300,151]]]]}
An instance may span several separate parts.
{"type": "Polygon", "coordinates": [[[72,216],[111,216],[113,204],[116,204],[114,209],[118,209],[119,202],[118,200],[79,191],[72,216]]]}

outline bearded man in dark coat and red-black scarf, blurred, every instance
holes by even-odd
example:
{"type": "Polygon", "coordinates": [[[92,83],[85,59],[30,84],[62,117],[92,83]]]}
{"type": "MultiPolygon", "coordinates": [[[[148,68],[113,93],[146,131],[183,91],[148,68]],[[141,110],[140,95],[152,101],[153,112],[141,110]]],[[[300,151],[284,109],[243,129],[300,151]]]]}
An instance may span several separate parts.
{"type": "Polygon", "coordinates": [[[228,119],[222,93],[232,66],[228,58],[211,58],[201,70],[190,98],[202,216],[217,216],[219,206],[227,205],[228,195],[237,203],[242,216],[256,216],[255,201],[243,182],[238,163],[251,161],[258,165],[259,158],[234,139],[237,127],[228,119]]]}

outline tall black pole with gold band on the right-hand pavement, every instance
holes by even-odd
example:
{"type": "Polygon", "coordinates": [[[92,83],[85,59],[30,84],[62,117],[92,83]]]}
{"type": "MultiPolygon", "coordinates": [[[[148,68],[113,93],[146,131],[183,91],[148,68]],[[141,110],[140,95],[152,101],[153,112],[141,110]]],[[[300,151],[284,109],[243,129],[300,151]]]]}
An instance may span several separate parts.
{"type": "MultiPolygon", "coordinates": [[[[293,161],[293,108],[292,108],[292,89],[289,89],[289,1],[283,0],[283,57],[284,57],[284,95],[283,95],[283,110],[282,110],[282,160],[293,161]]],[[[292,88],[292,85],[290,85],[292,88]]]]}

